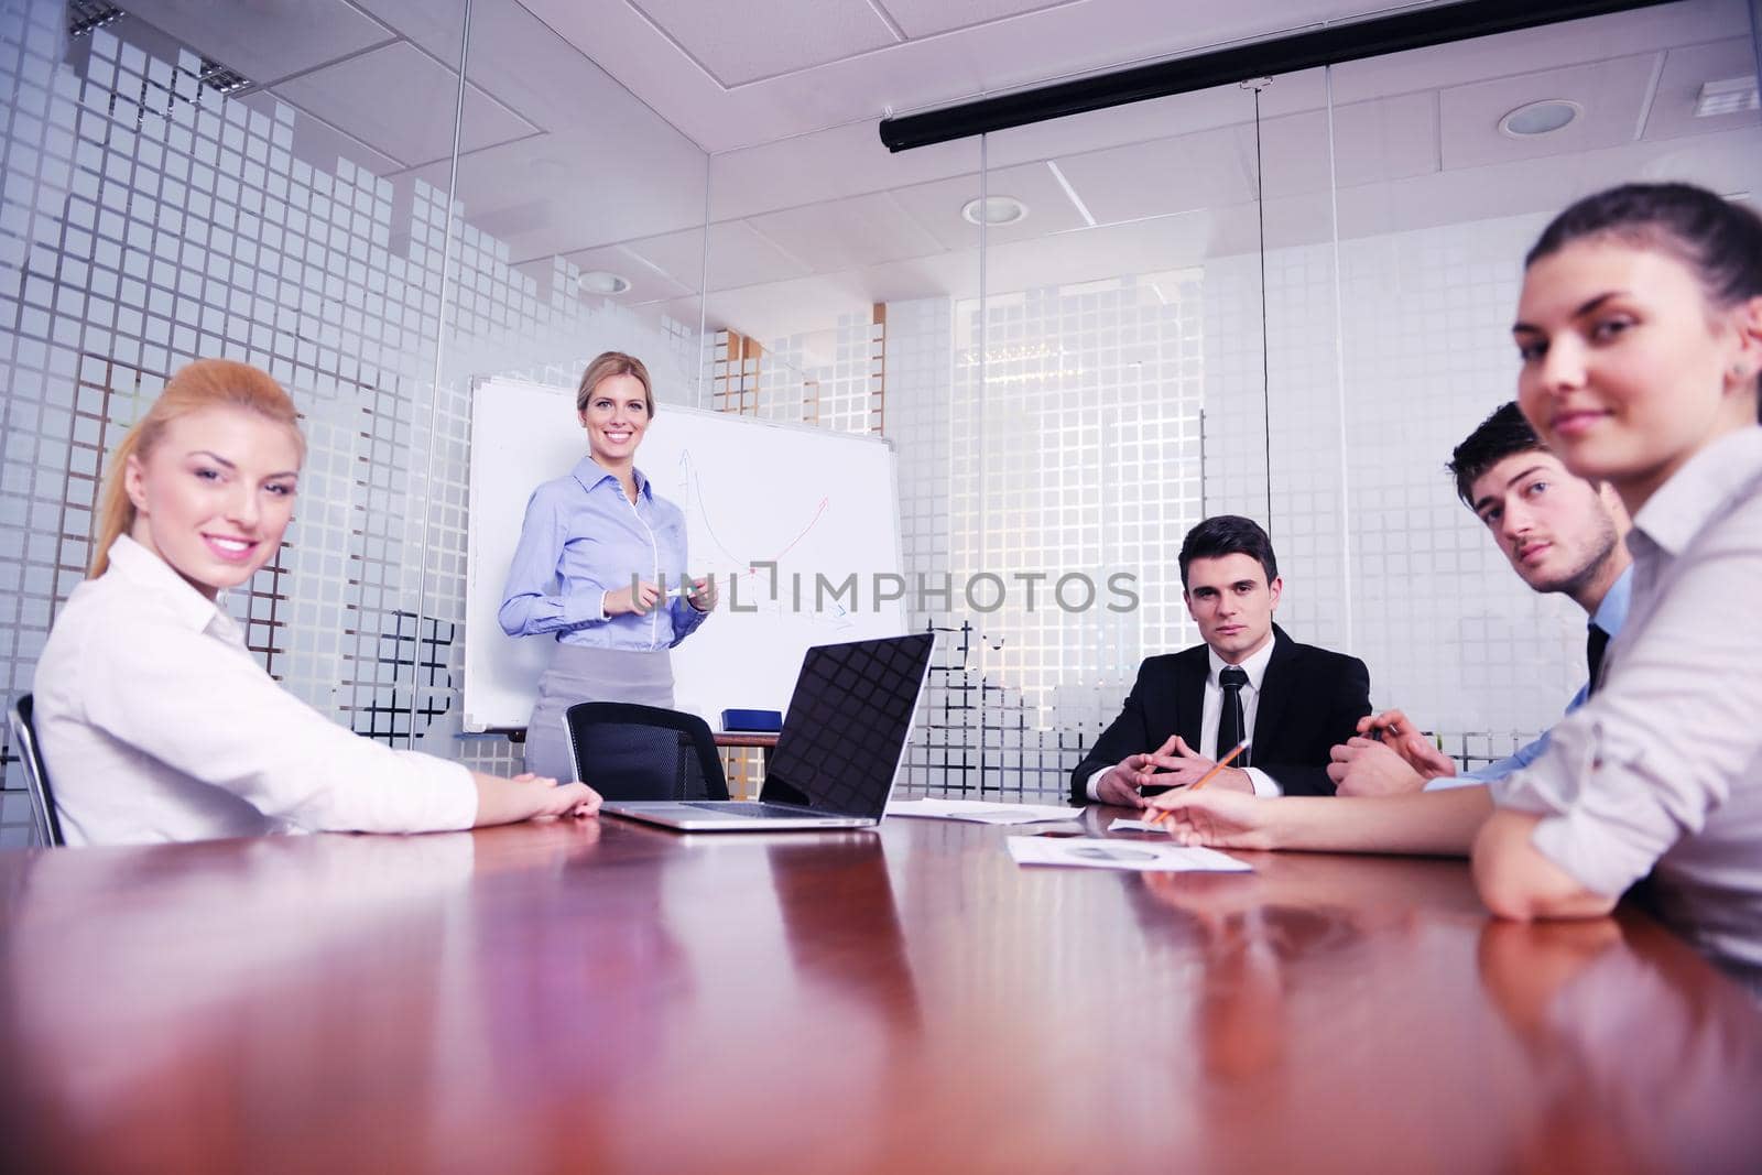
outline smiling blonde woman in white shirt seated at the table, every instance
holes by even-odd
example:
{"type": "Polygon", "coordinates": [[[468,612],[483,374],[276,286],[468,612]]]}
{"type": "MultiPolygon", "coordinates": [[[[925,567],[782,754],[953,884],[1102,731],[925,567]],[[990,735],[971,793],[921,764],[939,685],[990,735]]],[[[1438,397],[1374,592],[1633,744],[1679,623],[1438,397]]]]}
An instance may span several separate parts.
{"type": "Polygon", "coordinates": [[[303,458],[287,393],[227,359],[178,372],[116,447],[92,574],[37,662],[37,738],[67,842],[596,814],[583,784],[393,750],[264,673],[218,595],[275,557],[303,458]]]}

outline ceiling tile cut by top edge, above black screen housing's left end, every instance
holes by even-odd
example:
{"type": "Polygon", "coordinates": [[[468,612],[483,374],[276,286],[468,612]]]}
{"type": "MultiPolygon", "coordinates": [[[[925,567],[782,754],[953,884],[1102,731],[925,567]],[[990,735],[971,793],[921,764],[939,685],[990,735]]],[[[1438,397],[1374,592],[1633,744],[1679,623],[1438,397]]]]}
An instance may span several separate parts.
{"type": "Polygon", "coordinates": [[[865,0],[631,0],[722,86],[899,44],[865,0]]]}

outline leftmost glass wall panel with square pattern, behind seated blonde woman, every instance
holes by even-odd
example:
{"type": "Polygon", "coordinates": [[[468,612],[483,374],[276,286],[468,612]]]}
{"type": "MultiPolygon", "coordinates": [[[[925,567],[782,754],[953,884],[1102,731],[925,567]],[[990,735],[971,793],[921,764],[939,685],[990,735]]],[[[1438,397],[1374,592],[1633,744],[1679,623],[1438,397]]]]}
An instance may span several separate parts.
{"type": "MultiPolygon", "coordinates": [[[[432,169],[455,150],[463,28],[465,0],[0,7],[9,696],[85,573],[106,454],[176,368],[226,356],[294,393],[310,446],[282,551],[229,594],[247,643],[337,721],[409,738],[448,238],[432,169]]],[[[474,136],[522,129],[485,95],[465,109],[474,136]]]]}

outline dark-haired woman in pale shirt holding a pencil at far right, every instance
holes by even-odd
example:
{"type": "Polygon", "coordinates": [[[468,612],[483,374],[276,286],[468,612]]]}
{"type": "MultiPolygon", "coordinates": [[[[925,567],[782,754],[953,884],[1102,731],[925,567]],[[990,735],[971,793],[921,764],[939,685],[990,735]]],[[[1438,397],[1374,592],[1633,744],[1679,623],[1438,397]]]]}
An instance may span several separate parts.
{"type": "Polygon", "coordinates": [[[1651,874],[1663,921],[1762,992],[1762,218],[1676,183],[1586,197],[1529,250],[1514,335],[1524,416],[1633,520],[1596,696],[1489,786],[1491,816],[1477,789],[1325,816],[1218,789],[1154,805],[1193,844],[1473,842],[1482,898],[1519,920],[1605,914],[1651,874]]]}

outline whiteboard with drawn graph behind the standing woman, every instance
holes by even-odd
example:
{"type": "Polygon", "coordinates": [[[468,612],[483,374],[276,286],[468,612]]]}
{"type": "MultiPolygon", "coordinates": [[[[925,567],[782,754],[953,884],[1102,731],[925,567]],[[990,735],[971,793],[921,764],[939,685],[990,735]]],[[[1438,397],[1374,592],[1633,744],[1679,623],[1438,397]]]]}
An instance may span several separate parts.
{"type": "MultiPolygon", "coordinates": [[[[495,613],[527,499],[585,454],[573,389],[476,381],[465,731],[523,728],[532,715],[555,639],[507,636],[495,613]]],[[[680,710],[701,715],[712,729],[721,729],[724,708],[784,710],[809,645],[906,632],[904,601],[877,604],[874,592],[877,574],[900,569],[899,493],[886,440],[661,403],[636,467],[684,511],[691,573],[714,574],[721,592],[710,618],[673,648],[680,710]],[[777,564],[775,592],[772,573],[754,569],[761,560],[777,564]],[[833,588],[855,574],[855,597],[816,592],[816,574],[833,588]]]]}

